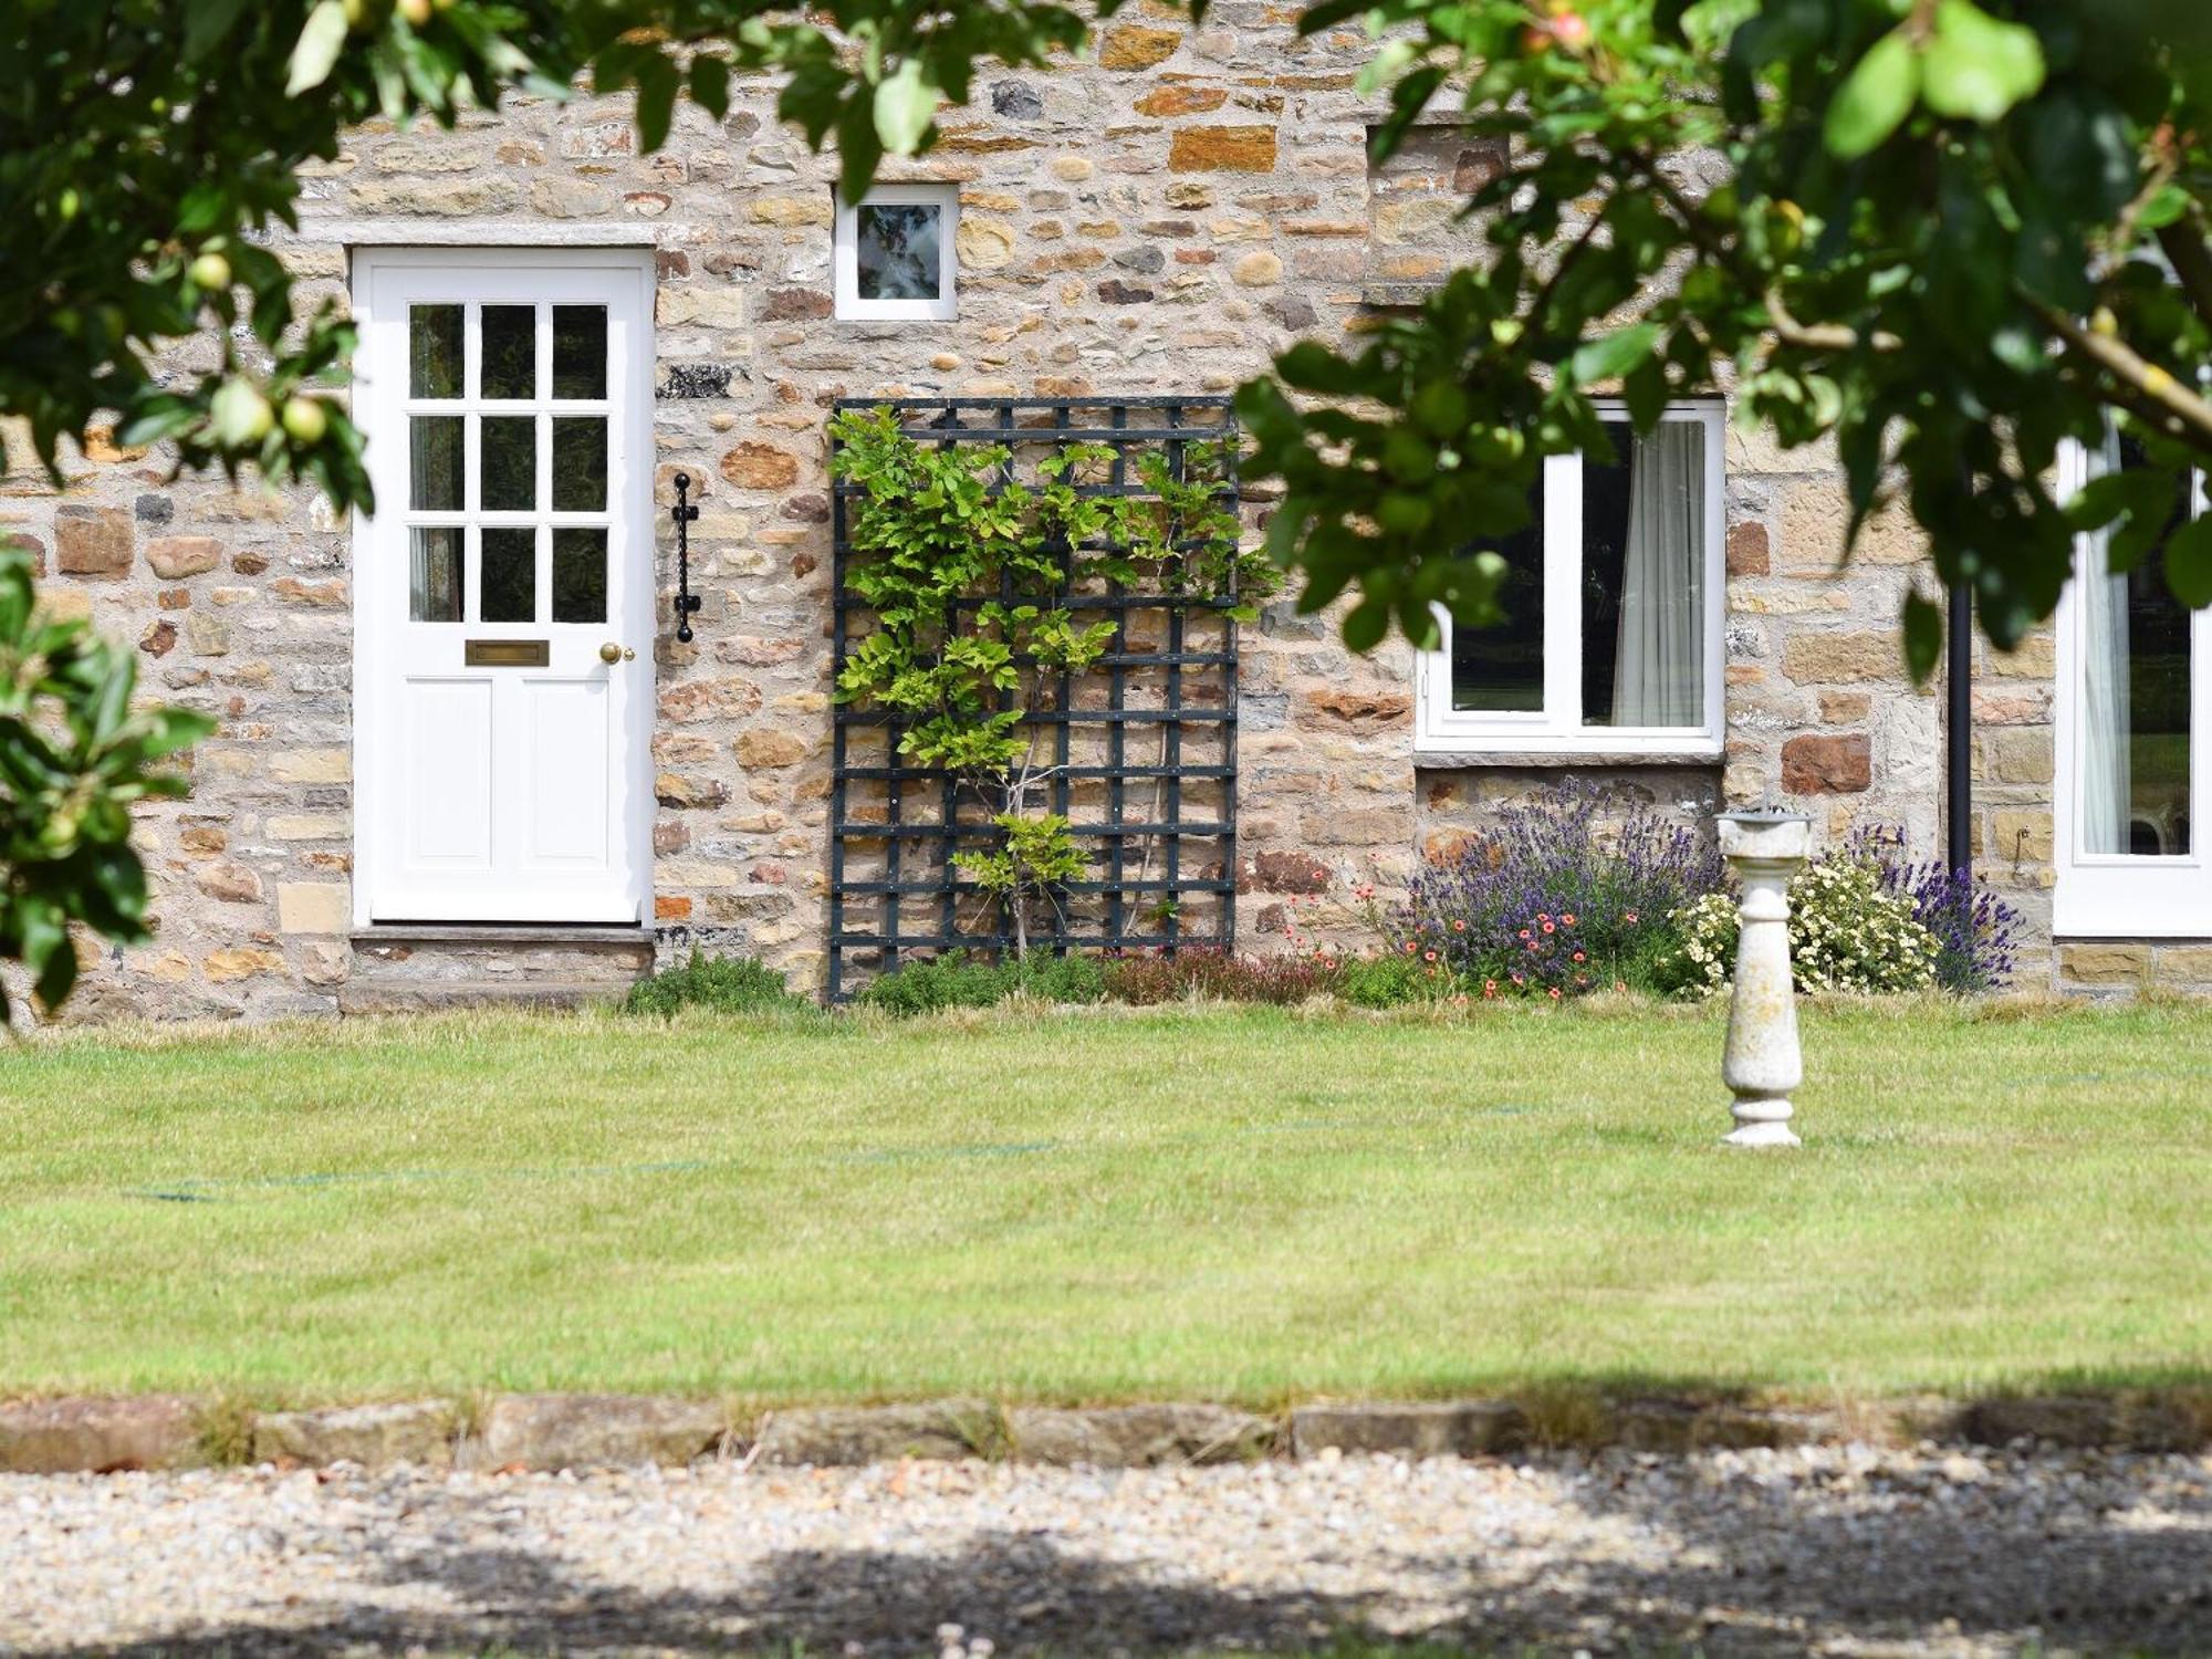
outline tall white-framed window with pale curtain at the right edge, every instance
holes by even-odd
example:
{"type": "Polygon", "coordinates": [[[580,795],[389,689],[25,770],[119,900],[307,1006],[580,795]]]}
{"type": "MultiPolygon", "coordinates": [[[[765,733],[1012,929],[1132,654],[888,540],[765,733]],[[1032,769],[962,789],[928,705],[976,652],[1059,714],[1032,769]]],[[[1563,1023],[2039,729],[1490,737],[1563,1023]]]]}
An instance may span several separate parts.
{"type": "MultiPolygon", "coordinates": [[[[2068,458],[2068,489],[2139,465],[2106,440],[2068,458]]],[[[2205,511],[2203,476],[2177,489],[2168,531],[2205,511]]],[[[2128,571],[2110,538],[2084,535],[2059,602],[2055,931],[2212,933],[2203,856],[2203,732],[2212,723],[2212,613],[2166,584],[2166,542],[2128,571]]],[[[2000,856],[2013,849],[1997,847],[2000,856]]]]}

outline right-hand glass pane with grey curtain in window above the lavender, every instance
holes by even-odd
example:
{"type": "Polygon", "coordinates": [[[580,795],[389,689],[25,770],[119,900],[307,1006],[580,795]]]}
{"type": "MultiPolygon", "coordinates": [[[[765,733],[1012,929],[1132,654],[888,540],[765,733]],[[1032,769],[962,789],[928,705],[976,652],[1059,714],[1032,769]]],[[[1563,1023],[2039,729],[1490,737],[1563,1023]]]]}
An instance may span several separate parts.
{"type": "Polygon", "coordinates": [[[1637,438],[1582,462],[1582,723],[1705,721],[1705,429],[1637,438]]]}

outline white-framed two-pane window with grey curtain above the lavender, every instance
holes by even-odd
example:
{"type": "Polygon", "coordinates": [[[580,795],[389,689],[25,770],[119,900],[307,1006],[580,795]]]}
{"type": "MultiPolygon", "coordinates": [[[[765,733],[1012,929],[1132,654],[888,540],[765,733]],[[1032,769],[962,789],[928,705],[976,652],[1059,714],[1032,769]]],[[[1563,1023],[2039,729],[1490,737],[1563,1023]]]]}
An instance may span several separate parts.
{"type": "Polygon", "coordinates": [[[1615,458],[1551,456],[1495,544],[1506,619],[1420,655],[1418,750],[1721,752],[1721,405],[1599,414],[1615,458]]]}

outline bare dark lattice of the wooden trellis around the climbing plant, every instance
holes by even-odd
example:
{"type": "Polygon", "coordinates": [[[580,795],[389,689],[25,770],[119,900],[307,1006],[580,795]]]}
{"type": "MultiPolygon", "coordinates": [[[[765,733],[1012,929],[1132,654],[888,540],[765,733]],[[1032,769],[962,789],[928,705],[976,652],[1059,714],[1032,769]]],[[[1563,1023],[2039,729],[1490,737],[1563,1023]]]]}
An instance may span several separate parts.
{"type": "MultiPolygon", "coordinates": [[[[1110,478],[1086,487],[1097,495],[1146,493],[1128,467],[1137,451],[1166,453],[1183,478],[1188,445],[1214,442],[1225,469],[1221,500],[1232,511],[1239,502],[1228,398],[847,398],[836,407],[889,407],[918,440],[1009,445],[1015,460],[1057,445],[1106,445],[1110,478]]],[[[845,584],[854,553],[847,502],[856,493],[836,484],[830,509],[838,670],[867,619],[867,604],[845,584]]],[[[1208,597],[1119,584],[1079,593],[1071,562],[1073,551],[1062,549],[1055,593],[1000,593],[1004,602],[1064,604],[1077,626],[1115,624],[1106,655],[1053,677],[1051,706],[1024,714],[1051,752],[1042,805],[1071,821],[1095,872],[1066,883],[1057,909],[1033,916],[1031,949],[1225,949],[1237,936],[1234,588],[1208,597]]],[[[889,971],[907,951],[1009,951],[1009,920],[953,865],[956,852],[993,845],[993,805],[945,770],[905,763],[896,714],[838,706],[832,719],[830,998],[852,995],[854,969],[889,971]]]]}

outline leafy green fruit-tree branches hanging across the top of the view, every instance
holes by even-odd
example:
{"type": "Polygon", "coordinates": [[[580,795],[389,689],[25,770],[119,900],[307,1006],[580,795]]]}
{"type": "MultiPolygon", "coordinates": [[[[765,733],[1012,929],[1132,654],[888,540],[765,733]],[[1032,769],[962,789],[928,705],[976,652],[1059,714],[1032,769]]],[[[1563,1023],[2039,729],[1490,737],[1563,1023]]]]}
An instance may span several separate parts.
{"type": "MultiPolygon", "coordinates": [[[[582,75],[635,88],[650,148],[679,97],[719,115],[734,77],[774,75],[856,190],[931,144],[980,62],[1046,64],[1117,4],[22,0],[0,31],[0,414],[49,462],[119,411],[186,465],[365,504],[358,436],[314,394],[349,332],[294,316],[257,243],[349,122],[582,75]],[[188,334],[208,363],[157,380],[188,334]]],[[[2212,460],[2199,0],[1316,0],[1298,27],[1374,38],[1378,155],[1458,122],[1511,157],[1469,204],[1484,259],[1241,394],[1285,482],[1274,549],[1307,606],[1358,591],[1352,644],[1427,637],[1436,604],[1495,615],[1500,564],[1469,549],[1517,526],[1546,453],[1606,449],[1599,392],[1648,425],[1725,385],[1783,442],[1834,440],[1854,529],[1902,500],[1997,644],[2048,615],[2077,531],[2139,557],[2212,460]],[[2150,467],[2059,500],[2059,445],[2108,422],[2150,467]]],[[[2212,599],[2212,522],[2168,573],[2212,599]]],[[[1905,630],[1927,668],[1927,597],[1905,630]]]]}

